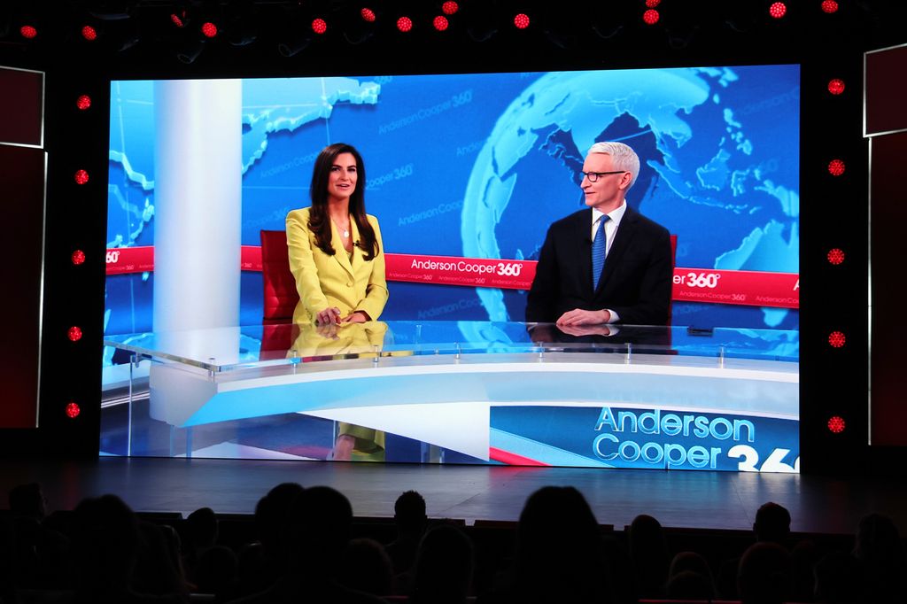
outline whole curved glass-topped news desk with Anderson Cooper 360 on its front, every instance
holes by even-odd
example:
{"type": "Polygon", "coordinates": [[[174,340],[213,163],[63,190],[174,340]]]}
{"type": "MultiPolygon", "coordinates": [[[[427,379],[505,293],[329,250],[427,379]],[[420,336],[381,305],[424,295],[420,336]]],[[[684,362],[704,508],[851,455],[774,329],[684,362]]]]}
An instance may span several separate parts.
{"type": "Polygon", "coordinates": [[[796,331],[471,321],[106,336],[102,454],[799,469],[796,331]],[[201,431],[201,432],[200,432],[201,431]]]}

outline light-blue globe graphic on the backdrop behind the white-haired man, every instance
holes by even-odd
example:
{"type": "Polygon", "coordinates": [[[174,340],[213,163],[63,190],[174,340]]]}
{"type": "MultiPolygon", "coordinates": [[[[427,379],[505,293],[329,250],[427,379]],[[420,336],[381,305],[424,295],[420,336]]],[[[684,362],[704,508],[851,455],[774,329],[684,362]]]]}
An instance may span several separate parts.
{"type": "MultiPolygon", "coordinates": [[[[754,152],[734,108],[723,103],[737,79],[727,68],[541,75],[502,113],[473,165],[463,255],[537,259],[551,222],[584,207],[586,151],[596,141],[624,141],[641,162],[628,203],[681,233],[678,264],[690,264],[680,266],[797,271],[796,176],[770,174],[772,158],[754,152]],[[575,185],[575,197],[564,198],[564,180],[575,185]],[[727,214],[728,228],[685,247],[692,238],[683,233],[695,233],[697,219],[716,213],[727,214]]],[[[491,321],[522,320],[522,292],[476,292],[491,321]]],[[[766,326],[787,314],[764,312],[766,326]]]]}

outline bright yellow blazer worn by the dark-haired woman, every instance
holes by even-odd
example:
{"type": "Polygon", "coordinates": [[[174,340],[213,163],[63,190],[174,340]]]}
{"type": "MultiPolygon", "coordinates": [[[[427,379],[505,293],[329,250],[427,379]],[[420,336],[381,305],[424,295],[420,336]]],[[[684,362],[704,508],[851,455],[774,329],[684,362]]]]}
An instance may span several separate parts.
{"type": "MultiPolygon", "coordinates": [[[[346,317],[362,310],[374,321],[381,316],[387,302],[385,280],[385,246],[378,229],[378,219],[367,216],[379,251],[366,261],[366,253],[354,246],[353,256],[346,254],[340,233],[331,221],[331,245],[334,255],[328,256],[315,244],[315,233],[308,229],[309,209],[294,209],[287,215],[287,246],[289,269],[296,278],[299,302],[293,312],[296,323],[314,323],[317,314],[327,307],[340,309],[346,317]]],[[[350,219],[350,237],[359,240],[356,220],[350,219]]]]}

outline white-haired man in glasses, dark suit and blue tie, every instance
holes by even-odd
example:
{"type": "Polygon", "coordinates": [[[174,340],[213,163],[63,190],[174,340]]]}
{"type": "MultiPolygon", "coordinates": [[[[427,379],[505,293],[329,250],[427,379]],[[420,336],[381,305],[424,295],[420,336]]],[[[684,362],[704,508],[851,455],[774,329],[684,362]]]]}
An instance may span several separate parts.
{"type": "Polygon", "coordinates": [[[548,229],[526,321],[666,325],[673,277],[670,235],[624,199],[639,175],[639,157],[621,142],[597,142],[582,175],[590,209],[548,229]]]}

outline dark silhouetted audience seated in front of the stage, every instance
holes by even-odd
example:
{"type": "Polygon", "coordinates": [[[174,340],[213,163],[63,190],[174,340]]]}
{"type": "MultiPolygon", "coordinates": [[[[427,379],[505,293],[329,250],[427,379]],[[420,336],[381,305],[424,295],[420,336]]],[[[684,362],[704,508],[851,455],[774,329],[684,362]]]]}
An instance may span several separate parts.
{"type": "MultiPolygon", "coordinates": [[[[162,519],[141,521],[151,517],[108,494],[48,515],[34,483],[12,490],[9,502],[9,512],[0,514],[0,604],[629,604],[717,597],[715,551],[684,550],[670,559],[671,541],[657,519],[639,514],[623,534],[610,531],[573,487],[533,492],[515,530],[502,529],[515,533],[509,568],[501,556],[477,556],[473,539],[479,533],[472,527],[445,521],[424,531],[424,498],[413,491],[395,503],[397,536],[386,546],[351,540],[353,509],[342,493],[293,482],[278,484],[258,501],[257,539],[237,544],[238,550],[219,543],[219,516],[210,508],[171,526],[162,519]],[[403,590],[395,586],[391,551],[399,568],[408,569],[403,590]],[[711,563],[703,553],[713,556],[711,563]],[[482,566],[488,564],[498,566],[482,566]],[[502,581],[473,587],[477,569],[484,576],[500,571],[502,581]]],[[[732,599],[907,601],[905,552],[890,518],[863,517],[853,551],[822,550],[814,541],[788,549],[790,527],[784,507],[767,502],[759,508],[756,542],[728,560],[735,570],[732,599]]]]}

